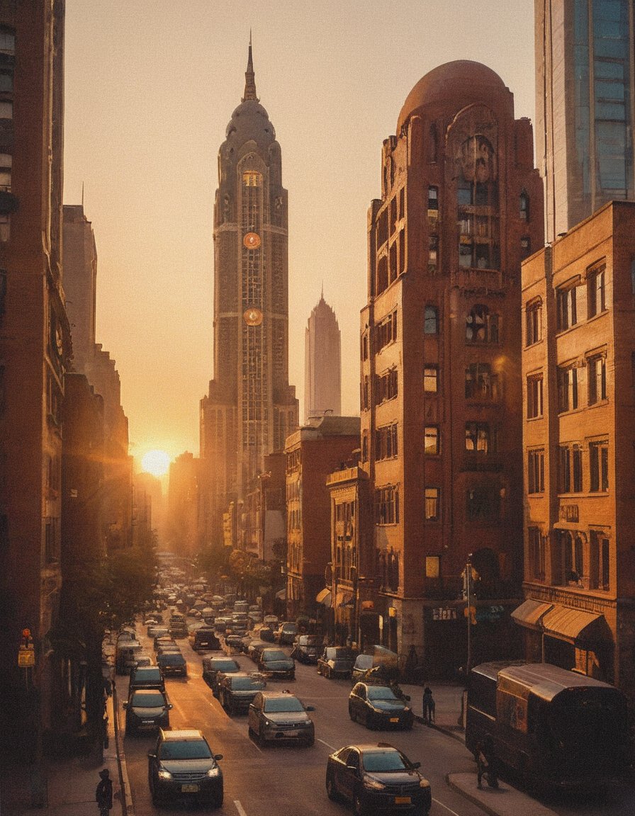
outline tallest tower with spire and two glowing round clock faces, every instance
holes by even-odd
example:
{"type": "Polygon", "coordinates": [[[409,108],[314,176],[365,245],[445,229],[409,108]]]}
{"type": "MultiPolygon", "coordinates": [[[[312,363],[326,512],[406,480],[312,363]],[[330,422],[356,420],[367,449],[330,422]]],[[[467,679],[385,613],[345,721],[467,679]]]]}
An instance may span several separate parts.
{"type": "Polygon", "coordinates": [[[283,450],[298,427],[289,385],[287,193],[280,145],[255,91],[251,41],[218,172],[214,378],[201,401],[206,541],[217,540],[223,514],[264,472],[264,456],[283,450]]]}

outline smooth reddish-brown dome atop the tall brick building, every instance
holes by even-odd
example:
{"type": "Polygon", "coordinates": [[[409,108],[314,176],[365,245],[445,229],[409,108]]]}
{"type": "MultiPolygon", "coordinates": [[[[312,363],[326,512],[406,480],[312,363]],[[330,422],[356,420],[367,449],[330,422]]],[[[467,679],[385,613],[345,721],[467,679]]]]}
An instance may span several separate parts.
{"type": "Polygon", "coordinates": [[[480,62],[455,60],[438,65],[426,73],[406,96],[397,120],[397,134],[401,132],[408,117],[424,105],[449,100],[457,93],[463,97],[473,95],[474,101],[477,101],[482,96],[482,91],[490,95],[492,91],[506,90],[500,76],[480,62]]]}

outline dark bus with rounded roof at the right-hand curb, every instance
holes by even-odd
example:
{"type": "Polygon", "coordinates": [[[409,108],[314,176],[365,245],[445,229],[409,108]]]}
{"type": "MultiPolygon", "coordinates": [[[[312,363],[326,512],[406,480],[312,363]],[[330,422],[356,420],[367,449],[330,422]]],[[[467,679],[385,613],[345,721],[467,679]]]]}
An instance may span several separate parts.
{"type": "Polygon", "coordinates": [[[468,676],[465,745],[491,738],[500,765],[544,787],[603,790],[628,768],[628,702],[549,663],[482,663],[468,676]]]}

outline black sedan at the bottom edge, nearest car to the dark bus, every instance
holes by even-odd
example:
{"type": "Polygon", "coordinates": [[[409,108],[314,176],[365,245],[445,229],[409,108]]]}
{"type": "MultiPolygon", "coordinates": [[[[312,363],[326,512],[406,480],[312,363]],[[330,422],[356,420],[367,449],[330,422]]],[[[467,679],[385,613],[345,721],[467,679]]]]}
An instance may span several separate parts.
{"type": "Polygon", "coordinates": [[[349,802],[355,814],[428,816],[432,790],[420,767],[388,743],[347,745],[326,761],[326,795],[349,802]]]}

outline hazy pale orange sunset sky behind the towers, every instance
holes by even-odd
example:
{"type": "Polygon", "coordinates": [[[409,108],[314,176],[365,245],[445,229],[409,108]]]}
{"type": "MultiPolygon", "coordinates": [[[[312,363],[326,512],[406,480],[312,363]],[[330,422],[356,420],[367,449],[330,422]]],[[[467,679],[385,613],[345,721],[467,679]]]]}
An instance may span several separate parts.
{"type": "Polygon", "coordinates": [[[245,83],[289,191],[290,380],[322,286],[342,334],[342,411],[359,412],[366,213],[412,86],[450,60],[504,80],[534,117],[533,0],[67,0],[64,203],[95,230],[97,342],[116,361],[131,453],[198,455],[212,371],[217,154],[245,83]]]}

